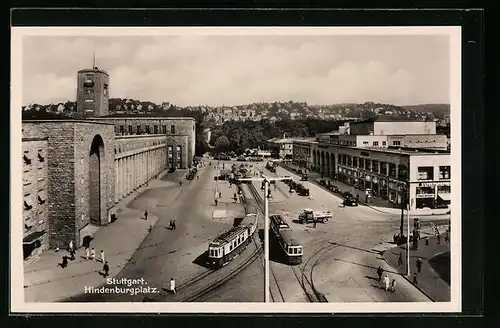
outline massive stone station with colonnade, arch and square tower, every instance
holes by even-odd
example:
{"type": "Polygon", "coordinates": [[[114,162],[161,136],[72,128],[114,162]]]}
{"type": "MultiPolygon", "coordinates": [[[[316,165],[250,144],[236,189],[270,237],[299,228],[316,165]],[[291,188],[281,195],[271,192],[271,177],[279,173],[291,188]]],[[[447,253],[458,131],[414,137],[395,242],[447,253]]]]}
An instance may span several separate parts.
{"type": "Polygon", "coordinates": [[[121,199],[163,172],[193,163],[193,118],[103,115],[108,76],[88,71],[79,72],[77,98],[86,105],[78,119],[22,122],[25,260],[70,241],[82,245],[96,227],[112,222],[121,199]],[[90,83],[92,76],[100,82],[90,83]],[[106,89],[94,107],[85,98],[93,87],[106,89]]]}

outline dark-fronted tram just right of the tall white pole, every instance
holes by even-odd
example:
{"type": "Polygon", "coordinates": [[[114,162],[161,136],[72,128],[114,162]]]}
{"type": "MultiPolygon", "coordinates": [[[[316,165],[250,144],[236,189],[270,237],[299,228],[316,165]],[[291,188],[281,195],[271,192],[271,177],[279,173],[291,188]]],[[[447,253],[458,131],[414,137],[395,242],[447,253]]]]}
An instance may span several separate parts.
{"type": "Polygon", "coordinates": [[[270,215],[269,224],[272,235],[281,248],[284,261],[292,265],[302,263],[303,247],[293,237],[293,231],[283,217],[278,214],[270,215]]]}

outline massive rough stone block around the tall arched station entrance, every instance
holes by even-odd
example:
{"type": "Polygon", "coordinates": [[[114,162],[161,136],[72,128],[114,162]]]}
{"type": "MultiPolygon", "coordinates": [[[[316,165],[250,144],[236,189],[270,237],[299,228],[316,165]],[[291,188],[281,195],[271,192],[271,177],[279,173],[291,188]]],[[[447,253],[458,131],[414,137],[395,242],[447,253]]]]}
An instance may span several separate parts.
{"type": "Polygon", "coordinates": [[[80,230],[90,223],[89,160],[96,136],[103,140],[100,171],[100,224],[114,204],[114,131],[103,123],[75,120],[23,122],[23,136],[47,138],[47,203],[49,246],[80,243],[80,230]]]}

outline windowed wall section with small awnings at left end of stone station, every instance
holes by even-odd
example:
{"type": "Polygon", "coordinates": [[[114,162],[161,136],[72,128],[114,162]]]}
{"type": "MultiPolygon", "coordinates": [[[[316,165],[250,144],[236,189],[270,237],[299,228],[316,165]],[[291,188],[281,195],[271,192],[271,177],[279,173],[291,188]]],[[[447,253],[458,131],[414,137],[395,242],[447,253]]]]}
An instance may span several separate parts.
{"type": "Polygon", "coordinates": [[[48,248],[47,138],[23,138],[23,253],[29,260],[48,248]]]}

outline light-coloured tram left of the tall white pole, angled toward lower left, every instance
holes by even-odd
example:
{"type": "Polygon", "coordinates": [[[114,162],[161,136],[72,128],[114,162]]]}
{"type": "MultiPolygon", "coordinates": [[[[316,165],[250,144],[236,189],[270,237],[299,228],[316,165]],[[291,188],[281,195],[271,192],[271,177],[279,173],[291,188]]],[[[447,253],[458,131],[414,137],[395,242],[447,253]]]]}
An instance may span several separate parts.
{"type": "Polygon", "coordinates": [[[208,264],[219,269],[238,256],[252,241],[257,229],[257,220],[257,213],[249,213],[239,226],[215,238],[208,246],[208,264]]]}

